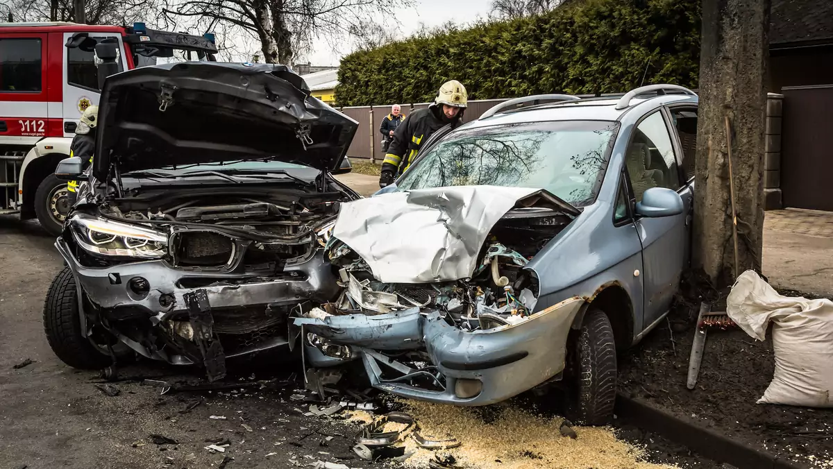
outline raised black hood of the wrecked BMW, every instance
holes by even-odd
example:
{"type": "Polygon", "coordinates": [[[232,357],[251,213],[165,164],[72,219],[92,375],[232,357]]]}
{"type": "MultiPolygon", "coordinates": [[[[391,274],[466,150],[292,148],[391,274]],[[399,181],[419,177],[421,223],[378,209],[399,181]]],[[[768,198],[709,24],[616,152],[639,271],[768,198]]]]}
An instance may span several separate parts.
{"type": "Polygon", "coordinates": [[[282,65],[184,62],[118,73],[102,90],[93,175],[264,158],[335,169],[358,122],[309,93],[282,65]]]}

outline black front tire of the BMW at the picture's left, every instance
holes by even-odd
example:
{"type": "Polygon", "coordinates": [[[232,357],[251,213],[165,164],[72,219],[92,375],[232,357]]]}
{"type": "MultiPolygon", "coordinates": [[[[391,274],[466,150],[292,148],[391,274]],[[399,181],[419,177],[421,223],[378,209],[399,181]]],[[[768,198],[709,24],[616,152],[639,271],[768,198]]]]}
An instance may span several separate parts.
{"type": "Polygon", "coordinates": [[[52,352],[70,367],[100,370],[112,364],[110,357],[81,335],[78,293],[69,267],[58,272],[49,287],[43,303],[43,329],[52,352]]]}

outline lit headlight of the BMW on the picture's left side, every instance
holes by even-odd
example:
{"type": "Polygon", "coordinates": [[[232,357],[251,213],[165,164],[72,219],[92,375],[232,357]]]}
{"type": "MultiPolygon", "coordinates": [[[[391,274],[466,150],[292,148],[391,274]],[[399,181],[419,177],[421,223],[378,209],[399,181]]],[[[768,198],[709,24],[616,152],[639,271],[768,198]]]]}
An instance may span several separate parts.
{"type": "Polygon", "coordinates": [[[158,259],[167,254],[167,235],[150,228],[77,214],[70,220],[77,243],[104,256],[158,259]]]}

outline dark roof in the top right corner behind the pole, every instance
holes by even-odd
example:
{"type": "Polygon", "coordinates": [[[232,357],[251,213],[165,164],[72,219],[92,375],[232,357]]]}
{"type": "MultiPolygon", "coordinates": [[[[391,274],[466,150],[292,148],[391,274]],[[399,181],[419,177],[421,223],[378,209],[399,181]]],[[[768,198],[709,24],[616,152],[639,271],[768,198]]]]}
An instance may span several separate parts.
{"type": "Polygon", "coordinates": [[[833,45],[833,1],[772,0],[770,48],[833,45]]]}

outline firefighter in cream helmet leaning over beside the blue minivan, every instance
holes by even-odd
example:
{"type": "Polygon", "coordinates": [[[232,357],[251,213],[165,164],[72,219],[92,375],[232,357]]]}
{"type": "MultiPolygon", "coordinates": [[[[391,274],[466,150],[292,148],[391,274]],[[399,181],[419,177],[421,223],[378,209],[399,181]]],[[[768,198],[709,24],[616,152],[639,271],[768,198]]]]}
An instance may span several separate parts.
{"type": "Polygon", "coordinates": [[[468,95],[461,82],[445,82],[436,93],[434,102],[426,109],[417,109],[407,117],[393,133],[391,146],[382,162],[382,177],[379,187],[387,187],[397,176],[405,172],[416,159],[422,142],[441,127],[460,124],[466,109],[468,95]]]}

